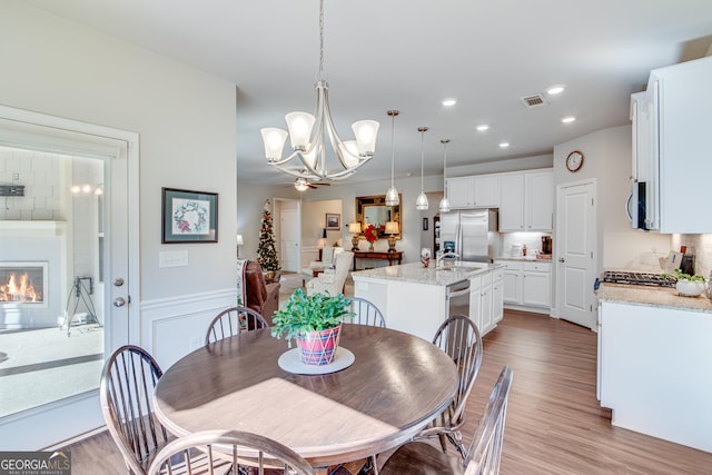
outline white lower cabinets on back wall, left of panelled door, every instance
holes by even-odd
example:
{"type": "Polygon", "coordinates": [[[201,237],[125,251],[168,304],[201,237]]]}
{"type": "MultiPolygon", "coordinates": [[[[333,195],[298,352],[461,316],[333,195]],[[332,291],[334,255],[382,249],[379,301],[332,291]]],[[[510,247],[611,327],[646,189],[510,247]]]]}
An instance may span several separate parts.
{"type": "Polygon", "coordinates": [[[495,259],[503,265],[502,301],[507,308],[547,314],[552,301],[552,265],[546,260],[495,259]]]}

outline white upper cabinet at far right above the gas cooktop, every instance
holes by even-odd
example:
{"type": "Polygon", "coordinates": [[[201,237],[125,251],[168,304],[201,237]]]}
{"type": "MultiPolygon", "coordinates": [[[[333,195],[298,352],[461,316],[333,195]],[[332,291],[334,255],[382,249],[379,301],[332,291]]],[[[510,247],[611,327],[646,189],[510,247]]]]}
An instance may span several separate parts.
{"type": "MultiPolygon", "coordinates": [[[[631,98],[634,181],[645,182],[646,227],[712,232],[712,57],[655,69],[631,98]]],[[[640,189],[640,188],[639,188],[640,189]]]]}

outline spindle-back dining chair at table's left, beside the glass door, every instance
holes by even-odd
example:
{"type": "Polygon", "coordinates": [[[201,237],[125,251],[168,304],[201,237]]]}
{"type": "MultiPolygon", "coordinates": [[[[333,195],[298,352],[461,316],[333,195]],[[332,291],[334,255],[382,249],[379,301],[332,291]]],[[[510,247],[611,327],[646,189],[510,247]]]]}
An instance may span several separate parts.
{"type": "Polygon", "coordinates": [[[154,357],[134,345],[118,348],[103,366],[101,413],[131,474],[146,474],[152,456],[169,442],[154,413],[154,388],[161,376],[154,357]]]}

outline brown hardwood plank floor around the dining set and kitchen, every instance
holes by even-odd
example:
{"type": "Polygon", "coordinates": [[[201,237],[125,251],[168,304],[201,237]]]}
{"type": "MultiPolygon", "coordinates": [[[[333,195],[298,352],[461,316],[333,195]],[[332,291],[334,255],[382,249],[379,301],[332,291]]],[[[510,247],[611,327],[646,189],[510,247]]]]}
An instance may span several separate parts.
{"type": "MultiPolygon", "coordinates": [[[[507,364],[514,384],[502,474],[709,474],[712,454],[611,426],[595,397],[596,334],[563,320],[506,310],[484,338],[465,439],[507,364]]],[[[108,433],[68,447],[72,475],[125,474],[108,433]],[[98,468],[101,467],[101,468],[98,468]]]]}

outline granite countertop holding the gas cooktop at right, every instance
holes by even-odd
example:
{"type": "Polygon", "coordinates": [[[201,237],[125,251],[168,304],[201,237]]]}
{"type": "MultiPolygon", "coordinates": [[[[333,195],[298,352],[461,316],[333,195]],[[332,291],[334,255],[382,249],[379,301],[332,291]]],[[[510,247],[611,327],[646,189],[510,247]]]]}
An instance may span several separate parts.
{"type": "Polygon", "coordinates": [[[704,294],[699,297],[682,297],[671,287],[646,287],[603,283],[601,287],[599,287],[596,296],[599,300],[712,314],[712,301],[706,298],[704,294]]]}

